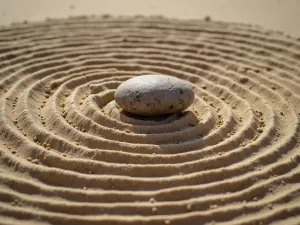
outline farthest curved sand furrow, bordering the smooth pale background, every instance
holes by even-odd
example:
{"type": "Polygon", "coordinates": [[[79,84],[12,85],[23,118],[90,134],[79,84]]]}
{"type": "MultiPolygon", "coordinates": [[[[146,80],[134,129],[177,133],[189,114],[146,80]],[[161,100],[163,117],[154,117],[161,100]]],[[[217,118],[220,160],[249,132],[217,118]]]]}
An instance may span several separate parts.
{"type": "MultiPolygon", "coordinates": [[[[201,21],[164,21],[158,18],[151,18],[151,20],[147,20],[145,21],[144,19],[138,19],[138,18],[134,18],[134,19],[128,19],[128,18],[118,18],[118,19],[106,19],[102,22],[99,21],[95,21],[91,18],[85,18],[84,19],[85,22],[83,22],[83,19],[71,19],[69,20],[67,23],[64,21],[64,24],[68,24],[68,26],[66,25],[62,25],[60,23],[60,20],[52,20],[52,21],[47,21],[47,23],[43,24],[43,23],[35,23],[33,25],[22,25],[22,24],[18,24],[15,27],[11,27],[11,28],[5,28],[3,29],[3,31],[5,31],[5,33],[9,33],[9,32],[15,32],[13,33],[14,35],[17,35],[16,32],[20,33],[20,31],[23,31],[22,33],[28,33],[31,36],[33,34],[35,34],[37,31],[36,27],[38,27],[40,31],[48,31],[49,30],[49,26],[55,26],[55,28],[58,30],[57,35],[61,35],[62,33],[59,32],[59,29],[64,29],[64,30],[73,30],[73,29],[82,29],[83,27],[86,29],[94,29],[94,30],[98,30],[101,29],[102,31],[106,31],[105,28],[107,28],[107,25],[109,25],[109,28],[121,28],[124,25],[127,25],[128,28],[134,28],[134,27],[139,27],[139,28],[152,28],[152,29],[170,29],[170,30],[184,30],[186,33],[188,32],[192,32],[192,31],[203,31],[203,30],[207,30],[210,33],[220,33],[220,34],[226,34],[226,33],[231,33],[235,36],[244,36],[244,37],[249,37],[250,35],[252,37],[254,37],[255,39],[261,39],[263,41],[269,41],[272,40],[272,42],[275,42],[276,44],[282,45],[282,44],[290,44],[290,43],[296,43],[296,40],[293,39],[288,39],[288,42],[286,42],[285,40],[287,40],[286,37],[283,37],[282,35],[268,35],[268,33],[270,33],[270,31],[265,31],[264,29],[257,29],[256,28],[251,28],[248,25],[241,25],[241,24],[226,24],[226,23],[222,23],[222,22],[214,22],[214,26],[211,26],[211,23],[207,23],[207,22],[201,22],[201,21]],[[125,19],[125,20],[124,20],[125,19]],[[87,23],[88,22],[88,23],[87,23]],[[131,23],[128,23],[131,22],[131,23]],[[136,22],[136,23],[132,23],[132,22],[136,22]],[[199,26],[199,24],[201,26],[199,26]],[[27,28],[27,29],[24,29],[27,28]],[[43,30],[44,28],[44,30],[43,30]],[[192,28],[192,29],[190,29],[192,28]],[[205,29],[204,29],[205,28],[205,29]],[[25,31],[25,32],[24,32],[25,31]],[[26,32],[27,31],[27,32],[26,32]]],[[[57,31],[54,30],[54,31],[57,31]]],[[[21,33],[21,34],[22,34],[21,33]]],[[[274,32],[275,34],[275,32],[274,32]]],[[[37,35],[36,35],[37,36],[37,35]]],[[[29,38],[30,36],[26,36],[26,38],[29,38]]]]}

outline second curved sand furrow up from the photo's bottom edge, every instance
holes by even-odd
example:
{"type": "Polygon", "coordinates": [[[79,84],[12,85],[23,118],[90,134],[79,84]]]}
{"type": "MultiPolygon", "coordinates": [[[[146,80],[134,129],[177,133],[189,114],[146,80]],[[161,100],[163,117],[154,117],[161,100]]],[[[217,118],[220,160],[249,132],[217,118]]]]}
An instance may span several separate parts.
{"type": "MultiPolygon", "coordinates": [[[[236,206],[237,203],[242,204],[243,208],[247,209],[245,213],[255,213],[255,211],[262,210],[263,208],[269,208],[272,209],[273,207],[276,207],[275,205],[285,203],[287,201],[291,201],[294,194],[298,194],[299,190],[292,190],[286,193],[286,195],[277,195],[275,199],[270,200],[260,200],[260,201],[252,201],[252,202],[234,202],[233,204],[227,204],[226,206],[219,206],[217,210],[214,210],[212,213],[212,216],[217,216],[214,214],[217,214],[218,211],[227,209],[228,211],[231,211],[234,206],[236,206]],[[251,210],[249,210],[251,208],[251,210]]],[[[97,215],[102,213],[108,213],[116,216],[126,216],[130,214],[136,213],[136,206],[139,206],[139,213],[143,216],[157,216],[157,215],[168,215],[170,212],[176,212],[176,214],[184,214],[186,211],[197,211],[197,212],[203,212],[206,211],[207,208],[210,207],[209,203],[203,204],[199,206],[199,202],[195,200],[194,202],[188,203],[188,204],[173,204],[169,203],[169,205],[162,205],[160,203],[136,203],[136,205],[126,205],[126,204],[110,204],[110,205],[100,205],[100,204],[88,204],[86,203],[86,207],[82,209],[81,204],[70,204],[66,202],[59,202],[52,200],[51,203],[43,200],[37,200],[34,198],[28,198],[25,196],[20,195],[11,195],[9,192],[2,192],[0,193],[0,198],[4,199],[5,202],[17,202],[16,205],[21,205],[22,207],[26,206],[26,208],[33,208],[37,207],[41,209],[45,209],[46,211],[51,212],[60,212],[64,213],[66,215],[97,215]],[[35,201],[34,201],[35,200],[35,201]],[[190,206],[191,208],[187,207],[190,206]],[[157,208],[157,211],[153,212],[153,207],[157,208]],[[193,210],[192,210],[193,209],[193,210]],[[120,214],[120,211],[123,212],[120,214]]],[[[45,211],[40,210],[40,211],[45,211]]],[[[234,214],[233,214],[234,215],[234,214]]],[[[232,215],[232,216],[233,216],[232,215]]],[[[236,215],[235,215],[236,216],[236,215]]],[[[230,219],[230,218],[227,218],[230,219]]]]}

